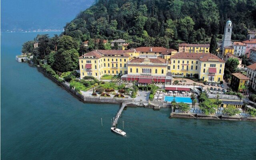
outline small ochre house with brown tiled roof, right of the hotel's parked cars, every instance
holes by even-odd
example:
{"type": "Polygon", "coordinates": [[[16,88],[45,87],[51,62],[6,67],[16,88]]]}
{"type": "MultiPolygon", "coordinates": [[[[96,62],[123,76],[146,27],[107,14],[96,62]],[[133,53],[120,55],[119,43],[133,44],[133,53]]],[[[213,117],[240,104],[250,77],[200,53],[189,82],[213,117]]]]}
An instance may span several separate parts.
{"type": "Polygon", "coordinates": [[[236,92],[246,92],[250,78],[241,73],[232,73],[230,87],[236,92]]]}

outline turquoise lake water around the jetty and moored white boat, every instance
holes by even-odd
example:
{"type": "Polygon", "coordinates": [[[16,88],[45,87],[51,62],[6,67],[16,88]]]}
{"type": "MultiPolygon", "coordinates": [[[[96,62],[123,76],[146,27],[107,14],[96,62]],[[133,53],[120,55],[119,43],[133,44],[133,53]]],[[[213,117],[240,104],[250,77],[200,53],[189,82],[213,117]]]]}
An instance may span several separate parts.
{"type": "Polygon", "coordinates": [[[127,108],[118,121],[127,135],[111,132],[119,105],[84,104],[16,62],[36,34],[1,33],[2,160],[256,159],[255,122],[169,119],[170,109],[127,108]]]}

